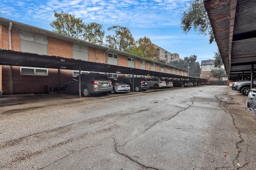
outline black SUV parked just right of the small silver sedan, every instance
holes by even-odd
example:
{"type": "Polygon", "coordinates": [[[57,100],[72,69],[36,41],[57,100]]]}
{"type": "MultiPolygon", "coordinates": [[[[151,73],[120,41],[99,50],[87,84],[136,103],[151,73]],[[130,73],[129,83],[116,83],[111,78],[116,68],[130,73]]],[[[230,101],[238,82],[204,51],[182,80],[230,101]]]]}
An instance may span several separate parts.
{"type": "Polygon", "coordinates": [[[122,80],[122,82],[128,84],[131,88],[133,87],[134,91],[136,92],[141,90],[146,91],[149,88],[148,81],[145,78],[140,78],[140,77],[126,78],[122,80]]]}

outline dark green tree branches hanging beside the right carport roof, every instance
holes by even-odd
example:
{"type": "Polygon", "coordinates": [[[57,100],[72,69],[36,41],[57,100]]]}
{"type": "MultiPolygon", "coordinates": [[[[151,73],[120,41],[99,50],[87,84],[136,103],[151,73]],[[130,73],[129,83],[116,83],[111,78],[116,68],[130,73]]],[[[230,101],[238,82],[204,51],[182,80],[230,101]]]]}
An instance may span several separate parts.
{"type": "Polygon", "coordinates": [[[183,32],[187,34],[192,27],[194,31],[199,31],[199,34],[210,35],[210,43],[215,41],[210,20],[204,8],[204,0],[190,1],[190,6],[183,12],[181,18],[183,32]]]}

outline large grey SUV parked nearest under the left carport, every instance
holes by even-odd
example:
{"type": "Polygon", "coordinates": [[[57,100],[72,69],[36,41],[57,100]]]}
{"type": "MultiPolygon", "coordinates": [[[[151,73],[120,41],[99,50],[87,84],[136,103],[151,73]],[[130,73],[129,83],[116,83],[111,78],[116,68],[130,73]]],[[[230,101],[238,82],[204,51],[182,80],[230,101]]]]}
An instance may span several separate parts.
{"type": "MultiPolygon", "coordinates": [[[[112,82],[104,74],[81,74],[81,93],[90,97],[93,93],[107,95],[112,90],[112,82]]],[[[79,76],[76,76],[65,85],[66,93],[79,92],[79,76]]]]}

